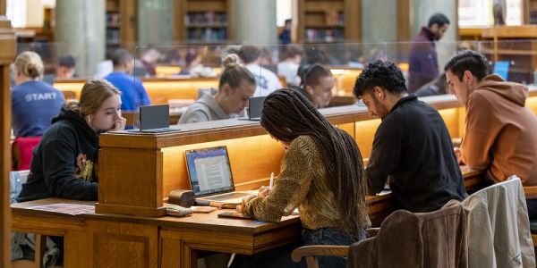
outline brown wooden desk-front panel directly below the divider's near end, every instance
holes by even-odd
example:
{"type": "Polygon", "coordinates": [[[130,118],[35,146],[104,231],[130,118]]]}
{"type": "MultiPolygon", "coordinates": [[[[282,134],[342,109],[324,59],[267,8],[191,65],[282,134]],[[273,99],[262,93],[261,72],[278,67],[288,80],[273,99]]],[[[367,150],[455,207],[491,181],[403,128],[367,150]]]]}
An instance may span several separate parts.
{"type": "Polygon", "coordinates": [[[93,267],[158,267],[158,227],[88,221],[93,267]]]}

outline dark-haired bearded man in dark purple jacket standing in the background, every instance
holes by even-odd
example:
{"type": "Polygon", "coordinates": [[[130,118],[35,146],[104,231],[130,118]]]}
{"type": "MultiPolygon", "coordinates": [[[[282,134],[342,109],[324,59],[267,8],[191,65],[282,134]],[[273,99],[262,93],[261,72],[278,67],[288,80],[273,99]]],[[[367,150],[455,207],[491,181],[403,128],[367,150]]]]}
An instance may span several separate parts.
{"type": "Polygon", "coordinates": [[[439,62],[434,41],[444,36],[449,27],[449,19],[436,13],[429,19],[427,27],[413,38],[408,56],[408,92],[413,93],[424,84],[439,77],[439,62]]]}

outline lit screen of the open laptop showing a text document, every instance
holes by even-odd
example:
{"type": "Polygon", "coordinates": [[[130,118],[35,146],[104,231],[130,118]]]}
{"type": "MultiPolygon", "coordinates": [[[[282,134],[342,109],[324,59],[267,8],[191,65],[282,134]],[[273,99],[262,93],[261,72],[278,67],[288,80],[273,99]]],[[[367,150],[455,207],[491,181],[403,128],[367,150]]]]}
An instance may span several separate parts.
{"type": "Polygon", "coordinates": [[[196,197],[234,189],[226,147],[186,151],[185,158],[196,197]]]}

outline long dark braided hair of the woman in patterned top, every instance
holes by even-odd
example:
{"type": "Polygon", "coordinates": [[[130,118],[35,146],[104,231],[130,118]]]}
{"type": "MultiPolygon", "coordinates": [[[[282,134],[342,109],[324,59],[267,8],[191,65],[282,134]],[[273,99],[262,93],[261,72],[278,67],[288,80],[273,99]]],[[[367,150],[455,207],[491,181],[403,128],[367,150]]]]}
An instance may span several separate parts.
{"type": "Polygon", "coordinates": [[[266,97],[261,126],[274,138],[286,142],[301,135],[313,138],[330,179],[328,185],[336,196],[343,227],[358,234],[366,227],[363,225],[369,224],[362,155],[354,138],[330,124],[305,96],[286,88],[266,97]]]}

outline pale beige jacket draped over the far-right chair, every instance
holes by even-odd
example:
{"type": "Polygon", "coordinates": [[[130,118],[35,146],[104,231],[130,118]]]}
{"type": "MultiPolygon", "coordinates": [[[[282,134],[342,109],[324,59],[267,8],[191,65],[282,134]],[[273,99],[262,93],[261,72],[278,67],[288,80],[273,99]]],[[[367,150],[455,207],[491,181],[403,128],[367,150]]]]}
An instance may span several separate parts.
{"type": "Polygon", "coordinates": [[[535,267],[530,222],[520,179],[483,188],[463,201],[470,267],[535,267]]]}

